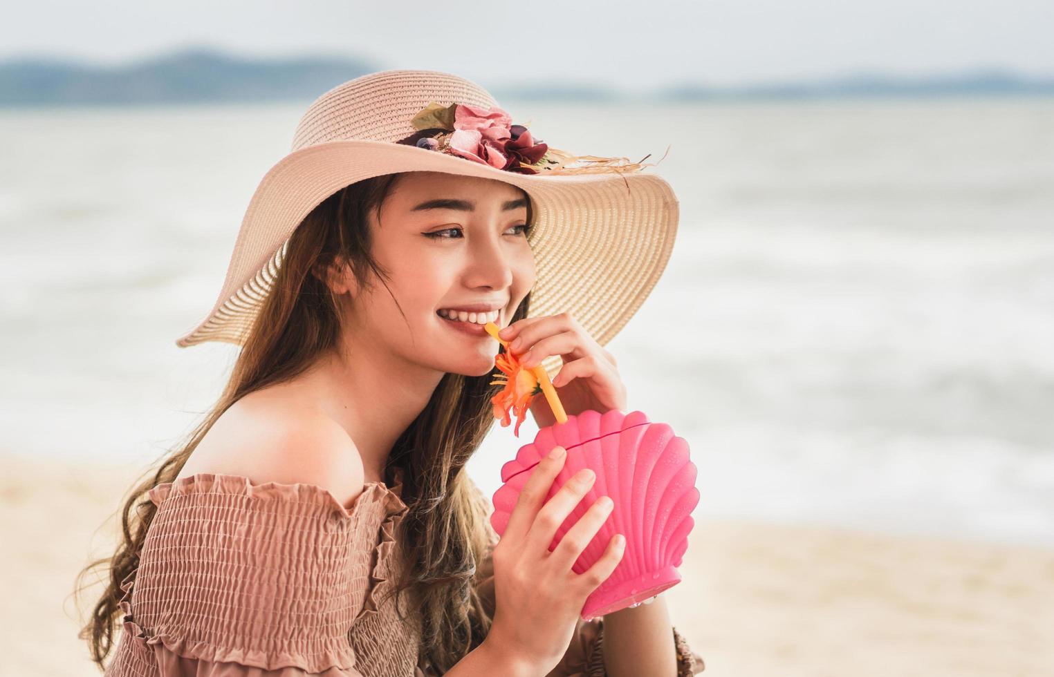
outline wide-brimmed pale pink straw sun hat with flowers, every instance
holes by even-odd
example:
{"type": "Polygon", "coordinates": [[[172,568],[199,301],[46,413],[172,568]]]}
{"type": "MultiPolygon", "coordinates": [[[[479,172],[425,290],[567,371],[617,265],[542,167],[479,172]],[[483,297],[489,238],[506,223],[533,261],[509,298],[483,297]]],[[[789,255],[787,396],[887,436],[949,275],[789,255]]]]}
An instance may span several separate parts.
{"type": "MultiPolygon", "coordinates": [[[[575,156],[543,140],[557,141],[544,128],[512,124],[486,89],[447,73],[384,71],[330,89],[304,114],[289,155],[260,180],[215,304],[176,344],[242,344],[304,217],[356,181],[425,171],[525,191],[538,275],[530,316],[569,312],[607,343],[666,267],[678,201],[666,181],[644,173],[650,163],[575,156]]],[[[559,356],[543,362],[550,377],[560,365],[559,356]]]]}

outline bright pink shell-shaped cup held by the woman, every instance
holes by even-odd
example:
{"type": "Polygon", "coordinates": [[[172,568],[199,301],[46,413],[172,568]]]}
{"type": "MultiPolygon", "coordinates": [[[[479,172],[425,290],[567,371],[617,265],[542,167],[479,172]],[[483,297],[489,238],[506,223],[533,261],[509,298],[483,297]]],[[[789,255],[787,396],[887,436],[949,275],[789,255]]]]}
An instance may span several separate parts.
{"type": "Polygon", "coordinates": [[[648,421],[643,412],[589,410],[540,430],[533,442],[521,446],[516,457],[502,466],[504,484],[494,493],[490,516],[494,531],[505,533],[520,491],[534,466],[558,445],[567,450],[567,459],[546,500],[583,467],[591,469],[597,479],[557,530],[549,551],[601,496],[609,496],[614,506],[571,570],[585,572],[604,554],[612,536],[626,537],[622,560],[586,599],[582,618],[639,604],[679,583],[677,566],[695,525],[691,511],[699,503],[696,465],[688,458],[688,443],[669,425],[648,421]]]}

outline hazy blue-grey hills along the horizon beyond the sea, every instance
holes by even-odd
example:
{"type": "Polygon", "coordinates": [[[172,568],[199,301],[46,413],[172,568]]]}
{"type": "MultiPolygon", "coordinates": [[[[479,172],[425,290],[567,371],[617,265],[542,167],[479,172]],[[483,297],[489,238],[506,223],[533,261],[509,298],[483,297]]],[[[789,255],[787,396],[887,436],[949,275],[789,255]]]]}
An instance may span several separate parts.
{"type": "MultiPolygon", "coordinates": [[[[384,66],[365,59],[249,59],[212,48],[184,49],[121,66],[42,58],[0,61],[0,106],[313,100],[384,66]]],[[[484,83],[481,83],[484,84],[484,83]]],[[[485,86],[487,86],[485,84],[485,86]]],[[[1054,78],[1001,71],[932,77],[857,74],[815,81],[743,86],[677,86],[620,92],[593,83],[518,82],[488,86],[499,100],[724,101],[860,97],[1054,96],[1054,78]]]]}

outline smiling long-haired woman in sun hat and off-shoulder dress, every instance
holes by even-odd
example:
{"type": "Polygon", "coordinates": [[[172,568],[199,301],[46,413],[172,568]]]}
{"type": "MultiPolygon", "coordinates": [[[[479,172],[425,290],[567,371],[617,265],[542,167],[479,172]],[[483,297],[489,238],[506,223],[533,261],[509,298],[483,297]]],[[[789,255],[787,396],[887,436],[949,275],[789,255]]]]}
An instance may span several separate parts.
{"type": "MultiPolygon", "coordinates": [[[[625,409],[592,334],[609,340],[650,291],[677,202],[640,164],[577,159],[449,74],[372,74],[309,107],[216,304],[177,341],[242,349],[216,406],[124,507],[81,635],[100,666],[116,643],[108,675],[702,671],[661,599],[579,617],[621,559],[612,539],[570,570],[601,501],[547,550],[589,479],[544,501],[563,463],[547,459],[499,541],[464,471],[507,414],[487,320],[527,366],[564,363],[569,414],[625,409]]],[[[543,425],[545,406],[530,402],[543,425]]]]}

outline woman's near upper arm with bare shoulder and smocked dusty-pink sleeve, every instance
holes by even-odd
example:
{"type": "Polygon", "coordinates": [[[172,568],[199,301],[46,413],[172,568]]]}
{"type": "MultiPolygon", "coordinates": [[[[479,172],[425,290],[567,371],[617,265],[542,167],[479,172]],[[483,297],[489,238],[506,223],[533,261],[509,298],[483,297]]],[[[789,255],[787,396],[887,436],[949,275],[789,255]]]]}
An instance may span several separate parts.
{"type": "Polygon", "coordinates": [[[184,479],[150,491],[157,511],[122,581],[124,649],[106,674],[363,677],[348,633],[367,589],[349,576],[366,578],[369,553],[359,520],[332,503],[351,493],[357,452],[325,417],[234,414],[184,479]]]}

